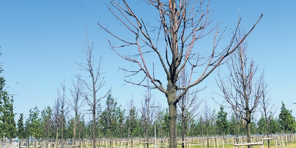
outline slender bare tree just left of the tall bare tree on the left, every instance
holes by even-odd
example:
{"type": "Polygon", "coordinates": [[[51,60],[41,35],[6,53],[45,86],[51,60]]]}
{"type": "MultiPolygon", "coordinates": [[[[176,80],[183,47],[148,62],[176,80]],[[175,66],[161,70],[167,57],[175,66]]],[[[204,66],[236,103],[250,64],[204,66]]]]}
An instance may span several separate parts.
{"type": "Polygon", "coordinates": [[[73,89],[71,89],[71,95],[72,99],[68,99],[68,104],[70,108],[74,111],[74,128],[73,128],[73,141],[72,144],[75,144],[75,137],[76,137],[76,124],[77,124],[77,118],[79,109],[83,106],[84,99],[83,99],[83,81],[81,79],[81,76],[79,74],[75,75],[75,80],[72,79],[73,89]],[[75,82],[74,82],[75,81],[75,82]]]}

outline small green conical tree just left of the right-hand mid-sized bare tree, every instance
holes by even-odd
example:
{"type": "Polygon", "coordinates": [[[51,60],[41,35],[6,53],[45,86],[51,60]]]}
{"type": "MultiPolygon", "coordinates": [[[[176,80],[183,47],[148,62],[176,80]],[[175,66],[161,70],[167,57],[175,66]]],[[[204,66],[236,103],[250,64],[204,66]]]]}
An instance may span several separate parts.
{"type": "Polygon", "coordinates": [[[227,120],[227,112],[224,111],[223,107],[220,107],[220,111],[217,114],[216,125],[218,127],[219,135],[225,136],[229,131],[229,123],[227,120]]]}

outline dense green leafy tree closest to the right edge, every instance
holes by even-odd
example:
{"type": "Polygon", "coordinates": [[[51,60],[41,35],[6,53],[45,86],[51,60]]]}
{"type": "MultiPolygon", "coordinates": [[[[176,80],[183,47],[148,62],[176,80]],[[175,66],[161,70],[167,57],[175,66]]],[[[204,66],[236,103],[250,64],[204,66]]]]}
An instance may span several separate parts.
{"type": "Polygon", "coordinates": [[[281,128],[284,130],[284,133],[290,132],[291,134],[295,133],[296,121],[292,115],[291,110],[287,110],[285,104],[282,102],[281,112],[279,114],[279,123],[281,128]]]}

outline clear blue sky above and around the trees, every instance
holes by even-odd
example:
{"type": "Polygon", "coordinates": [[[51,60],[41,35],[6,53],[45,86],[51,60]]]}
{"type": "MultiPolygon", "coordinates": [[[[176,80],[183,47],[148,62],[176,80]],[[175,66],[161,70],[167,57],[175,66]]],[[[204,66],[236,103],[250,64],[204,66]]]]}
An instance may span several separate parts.
{"type": "MultiPolygon", "coordinates": [[[[131,1],[137,7],[142,0],[131,1]]],[[[35,106],[41,111],[53,106],[60,83],[66,81],[71,87],[71,77],[77,74],[76,62],[84,62],[81,52],[87,26],[90,40],[94,41],[94,56],[102,56],[106,77],[106,89],[112,87],[112,95],[122,106],[132,96],[140,107],[145,88],[127,84],[122,87],[123,72],[119,67],[128,67],[109,49],[104,33],[97,22],[109,24],[114,17],[106,8],[109,0],[2,0],[0,1],[0,63],[6,79],[7,90],[14,96],[15,112],[28,115],[35,106]],[[132,88],[132,89],[131,89],[132,88]]],[[[269,84],[269,96],[278,111],[283,101],[296,116],[296,2],[294,0],[212,0],[211,17],[222,26],[235,26],[238,9],[244,28],[250,28],[263,13],[259,25],[247,38],[248,56],[261,70],[264,68],[269,84]]],[[[138,7],[142,18],[147,17],[146,8],[138,7]]],[[[114,27],[116,24],[109,24],[114,27]]],[[[200,98],[210,98],[218,91],[211,80],[213,73],[199,88],[207,88],[200,98]]],[[[69,90],[68,90],[69,92],[69,90]]],[[[155,98],[166,106],[165,96],[154,92],[155,98]]],[[[68,97],[71,97],[70,94],[68,97]]],[[[210,100],[210,99],[208,99],[210,100]]],[[[213,108],[217,106],[213,105],[213,108]]],[[[218,110],[218,109],[216,109],[218,110]]],[[[276,114],[278,115],[278,114],[276,114]]],[[[18,118],[19,115],[16,115],[18,118]]]]}

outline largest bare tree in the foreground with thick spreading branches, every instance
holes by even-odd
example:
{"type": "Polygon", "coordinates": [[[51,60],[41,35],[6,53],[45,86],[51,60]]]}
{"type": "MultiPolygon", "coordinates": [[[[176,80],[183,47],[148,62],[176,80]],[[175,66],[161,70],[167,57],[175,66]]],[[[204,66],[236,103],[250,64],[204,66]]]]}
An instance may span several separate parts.
{"type": "MultiPolygon", "coordinates": [[[[128,33],[117,35],[101,23],[98,25],[118,39],[119,42],[116,41],[115,44],[109,40],[111,48],[120,57],[138,66],[133,67],[135,68],[133,70],[123,69],[125,73],[128,73],[125,75],[125,81],[157,88],[165,94],[169,106],[170,148],[177,148],[177,103],[190,87],[203,81],[237,49],[257,25],[262,15],[238,43],[234,43],[236,28],[228,44],[218,51],[217,48],[220,47],[218,43],[223,38],[223,34],[220,33],[224,31],[221,32],[218,27],[207,29],[212,22],[209,17],[213,12],[209,10],[209,3],[204,0],[168,0],[168,2],[144,0],[144,2],[155,9],[156,16],[151,18],[158,17],[158,25],[148,24],[155,20],[145,20],[138,16],[126,0],[111,0],[111,6],[108,8],[116,20],[122,24],[121,26],[134,37],[127,37],[128,33]],[[208,51],[197,51],[196,41],[209,35],[215,29],[217,31],[213,37],[213,47],[209,47],[208,51]],[[126,51],[117,50],[118,48],[134,49],[133,47],[137,50],[129,52],[128,55],[126,51]],[[149,63],[149,59],[153,59],[155,64],[154,62],[149,63]],[[190,81],[187,86],[182,87],[177,85],[177,81],[184,72],[185,66],[190,71],[190,81]],[[142,78],[136,79],[138,74],[143,74],[142,78]],[[165,82],[162,80],[164,75],[165,82]],[[130,79],[130,77],[135,79],[130,79]],[[146,78],[151,81],[150,86],[145,84],[146,78]],[[177,95],[177,90],[182,90],[182,93],[177,95]]],[[[155,13],[149,12],[149,14],[155,13]]]]}

